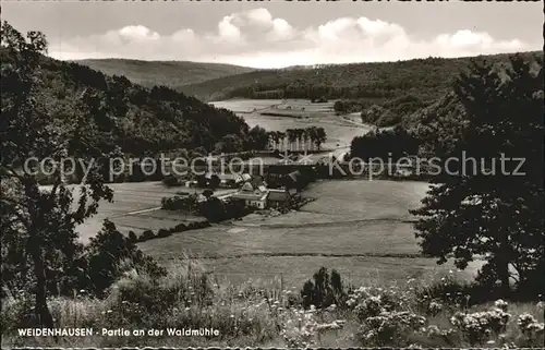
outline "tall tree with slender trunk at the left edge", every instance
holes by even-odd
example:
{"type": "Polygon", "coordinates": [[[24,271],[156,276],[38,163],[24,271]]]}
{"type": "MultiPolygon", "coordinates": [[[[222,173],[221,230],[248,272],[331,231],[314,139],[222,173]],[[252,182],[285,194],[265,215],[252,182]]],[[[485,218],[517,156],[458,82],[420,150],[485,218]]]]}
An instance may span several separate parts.
{"type": "Polygon", "coordinates": [[[105,186],[99,166],[93,166],[84,179],[86,185],[80,186],[74,208],[73,191],[63,184],[58,169],[52,186],[44,191],[34,169],[27,169],[24,162],[31,157],[49,157],[59,164],[64,157],[77,155],[90,165],[90,157],[104,153],[89,142],[96,128],[86,121],[104,111],[97,100],[100,96],[84,90],[78,109],[72,112],[72,123],[61,128],[57,116],[38,99],[43,55],[47,51],[45,36],[29,32],[25,38],[4,22],[1,47],[9,58],[1,67],[0,171],[3,190],[8,190],[2,191],[0,202],[2,283],[8,288],[34,285],[36,318],[40,325],[53,327],[47,280],[76,268],[71,264],[81,251],[75,227],[96,214],[100,200],[111,201],[112,192],[105,186]],[[17,252],[19,261],[13,261],[10,252],[17,252]]]}

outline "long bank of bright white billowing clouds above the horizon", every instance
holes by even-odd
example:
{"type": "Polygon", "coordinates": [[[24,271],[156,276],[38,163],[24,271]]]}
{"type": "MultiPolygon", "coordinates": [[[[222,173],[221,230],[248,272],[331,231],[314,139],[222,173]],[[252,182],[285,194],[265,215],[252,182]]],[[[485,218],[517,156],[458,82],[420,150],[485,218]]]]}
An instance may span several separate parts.
{"type": "Polygon", "coordinates": [[[293,64],[395,61],[429,56],[461,57],[536,49],[513,38],[461,28],[432,39],[414,37],[396,23],[340,17],[296,27],[266,9],[222,17],[213,33],[180,28],[171,34],[143,25],[64,40],[50,47],[60,59],[121,57],[147,60],[229,62],[257,68],[293,64]]]}

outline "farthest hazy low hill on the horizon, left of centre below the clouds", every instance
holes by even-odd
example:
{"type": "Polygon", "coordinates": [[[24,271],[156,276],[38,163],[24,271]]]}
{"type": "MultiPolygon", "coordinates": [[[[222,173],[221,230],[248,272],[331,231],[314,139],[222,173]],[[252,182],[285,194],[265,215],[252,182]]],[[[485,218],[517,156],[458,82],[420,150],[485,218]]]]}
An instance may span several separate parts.
{"type": "Polygon", "coordinates": [[[124,75],[131,82],[146,87],[155,85],[177,87],[254,71],[252,68],[240,65],[189,61],[89,59],[74,62],[105,74],[124,75]]]}

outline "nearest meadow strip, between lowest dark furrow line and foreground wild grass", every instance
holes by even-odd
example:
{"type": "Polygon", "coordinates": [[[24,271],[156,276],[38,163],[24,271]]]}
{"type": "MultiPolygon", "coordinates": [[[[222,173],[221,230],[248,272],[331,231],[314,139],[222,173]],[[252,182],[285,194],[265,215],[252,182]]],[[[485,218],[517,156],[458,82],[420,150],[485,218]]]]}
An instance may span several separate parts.
{"type": "Polygon", "coordinates": [[[238,258],[201,260],[218,280],[239,285],[252,279],[257,286],[280,288],[280,279],[287,288],[301,290],[303,283],[324,266],[337,269],[346,282],[356,286],[403,286],[407,279],[437,280],[437,276],[456,275],[469,280],[472,270],[457,270],[452,265],[437,266],[424,257],[371,257],[371,256],[245,256],[238,258]]]}

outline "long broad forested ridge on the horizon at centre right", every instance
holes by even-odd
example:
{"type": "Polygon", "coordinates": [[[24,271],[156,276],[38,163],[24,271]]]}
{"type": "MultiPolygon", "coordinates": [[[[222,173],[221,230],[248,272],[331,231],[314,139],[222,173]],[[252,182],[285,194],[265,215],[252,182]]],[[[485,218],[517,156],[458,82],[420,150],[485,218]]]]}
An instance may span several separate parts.
{"type": "MultiPolygon", "coordinates": [[[[533,55],[536,52],[524,52],[533,55]]],[[[507,62],[508,55],[480,57],[507,62]]],[[[443,96],[471,58],[427,58],[398,62],[330,64],[261,70],[177,86],[203,100],[228,98],[391,99],[412,95],[422,100],[443,96]]]]}

